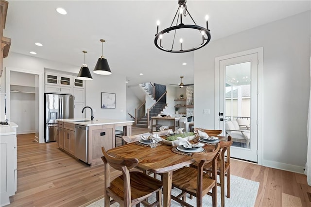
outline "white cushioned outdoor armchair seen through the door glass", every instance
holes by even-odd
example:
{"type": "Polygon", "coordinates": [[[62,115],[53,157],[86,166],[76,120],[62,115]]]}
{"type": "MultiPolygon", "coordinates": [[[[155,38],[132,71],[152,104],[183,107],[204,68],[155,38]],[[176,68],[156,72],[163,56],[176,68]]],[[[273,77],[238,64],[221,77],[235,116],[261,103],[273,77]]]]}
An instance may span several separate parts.
{"type": "Polygon", "coordinates": [[[236,120],[225,122],[226,135],[230,135],[235,142],[246,143],[246,147],[249,148],[250,131],[240,129],[239,123],[236,120]]]}

